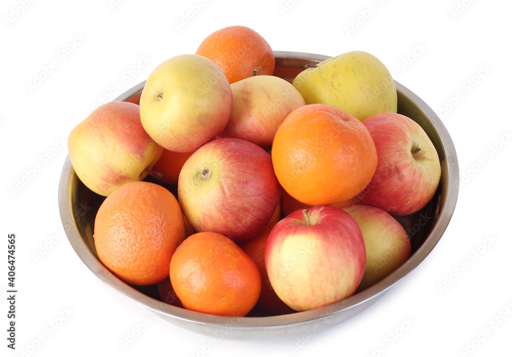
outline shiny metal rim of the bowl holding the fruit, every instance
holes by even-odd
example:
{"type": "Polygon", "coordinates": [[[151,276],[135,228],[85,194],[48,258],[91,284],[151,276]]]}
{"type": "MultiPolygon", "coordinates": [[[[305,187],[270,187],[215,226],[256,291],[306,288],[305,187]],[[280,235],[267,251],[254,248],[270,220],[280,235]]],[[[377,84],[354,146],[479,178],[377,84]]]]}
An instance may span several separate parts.
{"type": "MultiPolygon", "coordinates": [[[[282,58],[291,58],[308,60],[312,62],[321,62],[327,58],[330,58],[329,56],[318,54],[289,51],[274,51],[274,56],[276,60],[282,58]]],[[[142,91],[144,84],[145,81],[140,82],[139,84],[133,86],[115,98],[113,101],[126,101],[127,99],[142,91]]],[[[425,115],[429,118],[432,125],[434,126],[434,129],[438,133],[441,143],[443,144],[443,149],[445,151],[447,169],[446,174],[448,177],[446,188],[447,195],[444,204],[440,209],[438,219],[432,228],[432,231],[425,238],[425,241],[421,244],[421,246],[397,270],[362,292],[352,295],[337,303],[308,311],[301,311],[288,315],[241,318],[197,313],[196,311],[186,310],[180,307],[169,305],[150,296],[147,296],[139,292],[134,287],[122,282],[108,269],[106,269],[106,267],[103,266],[101,262],[94,256],[94,254],[87,248],[86,244],[80,237],[80,234],[76,229],[75,220],[71,210],[71,192],[69,184],[72,175],[74,174],[74,170],[71,165],[69,155],[66,158],[62,168],[58,189],[59,211],[63,228],[65,229],[68,240],[70,241],[71,246],[75,250],[78,257],[82,260],[82,262],[106,285],[124,297],[154,311],[157,314],[167,316],[172,319],[181,320],[181,322],[185,324],[199,324],[208,327],[217,326],[227,330],[250,329],[251,331],[257,331],[260,329],[268,330],[269,328],[274,328],[274,330],[277,330],[285,329],[290,325],[306,324],[308,321],[317,320],[319,318],[325,319],[331,318],[334,315],[341,316],[344,314],[350,314],[350,311],[355,309],[357,306],[367,304],[371,300],[377,300],[376,298],[379,298],[388,292],[392,286],[394,286],[409,273],[411,273],[426,258],[426,256],[430,254],[446,230],[447,225],[449,224],[454,213],[457,202],[459,168],[455,146],[449,133],[447,132],[439,117],[421,98],[396,81],[395,85],[398,92],[406,95],[419,107],[420,110],[425,113],[425,115]]]]}

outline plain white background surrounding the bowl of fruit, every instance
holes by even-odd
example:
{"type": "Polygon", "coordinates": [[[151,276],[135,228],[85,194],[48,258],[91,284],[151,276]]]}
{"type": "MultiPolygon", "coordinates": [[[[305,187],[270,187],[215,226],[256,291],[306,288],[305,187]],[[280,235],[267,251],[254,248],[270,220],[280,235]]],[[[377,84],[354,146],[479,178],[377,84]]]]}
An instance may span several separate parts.
{"type": "Polygon", "coordinates": [[[0,355],[293,354],[296,339],[218,340],[155,317],[88,270],[59,216],[70,130],[101,100],[112,99],[118,83],[121,92],[128,90],[163,60],[194,53],[205,36],[231,25],[254,29],[273,50],[377,56],[436,111],[457,149],[463,182],[433,252],[370,308],[316,333],[295,355],[366,357],[378,355],[381,345],[380,355],[392,356],[509,351],[511,11],[509,2],[469,0],[3,0],[0,355]],[[6,341],[8,233],[17,237],[15,351],[6,341]],[[467,269],[454,275],[461,266],[467,269]],[[442,284],[450,286],[440,291],[442,284]],[[56,322],[62,322],[57,329],[51,327],[56,322]],[[140,336],[123,349],[121,341],[141,324],[140,336]],[[479,342],[484,331],[488,336],[479,342]],[[40,336],[44,342],[35,343],[40,336]]]}

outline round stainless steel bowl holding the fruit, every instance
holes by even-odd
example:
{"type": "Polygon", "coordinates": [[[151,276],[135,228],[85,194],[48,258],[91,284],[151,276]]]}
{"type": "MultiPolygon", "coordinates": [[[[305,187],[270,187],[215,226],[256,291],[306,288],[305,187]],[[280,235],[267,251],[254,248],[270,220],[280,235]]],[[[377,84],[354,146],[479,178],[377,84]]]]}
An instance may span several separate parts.
{"type": "MultiPolygon", "coordinates": [[[[310,53],[280,51],[274,52],[274,55],[274,75],[290,82],[304,70],[306,64],[316,64],[329,58],[310,53]]],[[[115,100],[129,100],[142,91],[144,83],[139,83],[115,100]]],[[[397,82],[395,84],[398,113],[419,123],[437,149],[441,161],[441,181],[434,198],[425,208],[410,216],[397,217],[411,238],[412,256],[388,277],[365,291],[325,307],[280,316],[253,313],[250,317],[243,318],[222,317],[163,303],[155,286],[127,285],[98,260],[93,225],[104,197],[93,193],[80,182],[69,157],[62,168],[59,183],[60,216],[68,239],[83,263],[105,284],[133,302],[152,310],[162,319],[197,333],[233,340],[275,340],[298,336],[311,329],[327,329],[342,323],[375,303],[429,255],[449,224],[457,201],[459,169],[449,133],[427,104],[403,85],[397,82]]]]}

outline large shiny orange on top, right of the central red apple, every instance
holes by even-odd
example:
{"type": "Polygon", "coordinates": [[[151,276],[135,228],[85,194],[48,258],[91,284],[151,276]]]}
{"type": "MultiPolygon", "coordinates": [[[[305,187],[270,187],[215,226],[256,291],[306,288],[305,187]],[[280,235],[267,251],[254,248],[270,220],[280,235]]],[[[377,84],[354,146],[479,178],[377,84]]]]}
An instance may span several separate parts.
{"type": "Polygon", "coordinates": [[[326,104],[293,110],[275,133],[271,154],[283,189],[311,206],[356,196],[377,167],[377,151],[365,125],[326,104]]]}

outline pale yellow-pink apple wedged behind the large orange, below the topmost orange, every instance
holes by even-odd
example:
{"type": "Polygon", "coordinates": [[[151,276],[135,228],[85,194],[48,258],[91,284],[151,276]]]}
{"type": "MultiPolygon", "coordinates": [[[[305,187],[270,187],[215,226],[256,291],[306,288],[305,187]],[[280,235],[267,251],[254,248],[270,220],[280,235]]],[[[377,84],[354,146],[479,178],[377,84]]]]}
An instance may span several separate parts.
{"type": "Polygon", "coordinates": [[[269,146],[288,114],[305,105],[295,87],[279,77],[248,77],[232,83],[231,90],[231,115],[217,138],[237,138],[269,146]]]}

